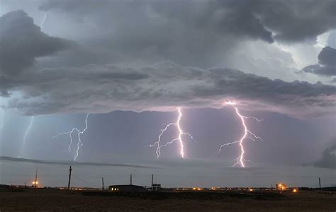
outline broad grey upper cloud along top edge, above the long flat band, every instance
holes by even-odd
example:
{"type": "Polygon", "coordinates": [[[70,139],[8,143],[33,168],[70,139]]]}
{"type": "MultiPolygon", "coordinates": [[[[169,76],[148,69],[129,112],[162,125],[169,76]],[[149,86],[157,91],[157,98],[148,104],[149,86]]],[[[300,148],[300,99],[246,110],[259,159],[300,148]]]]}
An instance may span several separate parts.
{"type": "Polygon", "coordinates": [[[315,42],[336,27],[335,6],[336,1],[60,0],[45,1],[40,9],[76,26],[94,26],[83,42],[120,54],[123,61],[208,68],[225,64],[245,40],[315,42]]]}

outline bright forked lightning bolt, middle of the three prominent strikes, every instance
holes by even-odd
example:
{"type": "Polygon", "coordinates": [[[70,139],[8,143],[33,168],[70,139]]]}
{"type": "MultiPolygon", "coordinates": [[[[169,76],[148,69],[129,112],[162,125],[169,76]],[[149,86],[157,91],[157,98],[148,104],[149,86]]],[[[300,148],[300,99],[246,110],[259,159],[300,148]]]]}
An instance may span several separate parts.
{"type": "Polygon", "coordinates": [[[160,130],[160,134],[157,138],[157,141],[155,143],[152,143],[149,145],[149,147],[153,147],[153,146],[157,146],[157,158],[159,158],[159,155],[161,155],[161,148],[165,147],[165,146],[169,146],[170,144],[174,143],[174,141],[178,141],[179,142],[179,146],[180,146],[180,150],[179,150],[179,155],[181,155],[181,158],[186,158],[187,155],[184,152],[184,141],[183,141],[183,136],[189,136],[189,138],[191,140],[194,141],[194,137],[191,136],[191,134],[184,132],[183,129],[181,128],[181,117],[182,117],[182,112],[181,112],[181,108],[177,107],[177,112],[179,113],[179,116],[177,117],[177,121],[176,122],[172,122],[169,124],[165,124],[164,128],[160,130]],[[164,134],[165,131],[167,131],[167,129],[169,129],[170,126],[177,126],[177,130],[179,131],[179,135],[177,136],[177,138],[172,139],[172,141],[169,141],[167,143],[165,143],[164,145],[161,145],[161,137],[164,134]]]}

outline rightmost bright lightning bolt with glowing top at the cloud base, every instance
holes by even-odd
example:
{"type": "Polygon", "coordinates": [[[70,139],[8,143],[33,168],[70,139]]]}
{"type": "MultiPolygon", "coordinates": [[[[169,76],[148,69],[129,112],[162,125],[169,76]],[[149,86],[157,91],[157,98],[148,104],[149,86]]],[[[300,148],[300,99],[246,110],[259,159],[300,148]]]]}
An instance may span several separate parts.
{"type": "MultiPolygon", "coordinates": [[[[228,102],[225,102],[224,105],[237,105],[237,104],[235,102],[228,101],[228,102]]],[[[238,110],[237,107],[234,107],[234,108],[235,108],[236,114],[238,115],[238,117],[240,117],[240,120],[242,121],[242,126],[244,127],[244,134],[242,135],[242,137],[238,141],[233,141],[233,142],[229,142],[229,143],[223,143],[220,146],[220,148],[218,150],[218,153],[220,153],[220,151],[222,150],[222,148],[224,146],[229,146],[229,145],[233,145],[235,143],[238,143],[239,146],[240,146],[240,156],[235,159],[235,160],[237,160],[237,162],[235,164],[233,164],[233,167],[235,167],[238,164],[240,164],[242,167],[245,167],[244,162],[248,161],[248,160],[246,160],[244,158],[244,153],[245,153],[245,149],[244,149],[244,145],[243,145],[244,144],[243,143],[244,140],[246,138],[249,138],[252,141],[255,141],[256,139],[262,140],[262,138],[260,138],[259,136],[256,136],[254,133],[252,133],[252,131],[250,131],[249,129],[247,129],[247,126],[245,124],[245,119],[254,119],[257,122],[262,122],[262,119],[257,119],[256,117],[245,117],[242,114],[240,114],[240,112],[239,112],[239,110],[238,110]]]]}

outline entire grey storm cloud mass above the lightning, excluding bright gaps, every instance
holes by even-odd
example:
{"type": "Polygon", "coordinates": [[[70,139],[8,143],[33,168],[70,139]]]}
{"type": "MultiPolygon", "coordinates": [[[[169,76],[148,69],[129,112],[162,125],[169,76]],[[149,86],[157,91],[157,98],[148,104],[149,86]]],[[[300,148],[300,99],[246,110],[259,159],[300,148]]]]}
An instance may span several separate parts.
{"type": "MultiPolygon", "coordinates": [[[[242,107],[294,116],[335,112],[335,86],[208,68],[217,50],[230,54],[240,40],[314,40],[335,28],[329,21],[335,14],[328,9],[335,1],[318,7],[315,1],[298,3],[99,1],[93,8],[92,1],[73,0],[40,6],[85,25],[93,22],[98,34],[85,45],[42,33],[23,11],[7,13],[0,19],[6,49],[0,54],[0,104],[23,114],[48,114],[218,108],[225,100],[237,100],[242,107]],[[322,18],[303,13],[308,6],[323,11],[322,18]],[[310,30],[303,30],[311,21],[310,30]]],[[[320,64],[329,66],[332,51],[323,51],[320,64]]]]}

